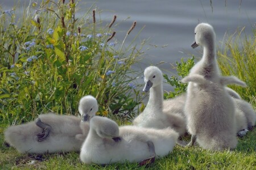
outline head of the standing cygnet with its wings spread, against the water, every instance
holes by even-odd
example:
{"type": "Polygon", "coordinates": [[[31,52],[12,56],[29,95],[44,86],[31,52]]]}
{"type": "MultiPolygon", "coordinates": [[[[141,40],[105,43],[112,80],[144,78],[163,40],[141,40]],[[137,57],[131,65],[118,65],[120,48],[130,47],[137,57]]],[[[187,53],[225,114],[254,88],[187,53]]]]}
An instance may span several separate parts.
{"type": "Polygon", "coordinates": [[[195,41],[191,45],[192,48],[197,46],[207,46],[213,44],[215,41],[215,32],[212,25],[207,23],[200,23],[195,28],[195,41]]]}

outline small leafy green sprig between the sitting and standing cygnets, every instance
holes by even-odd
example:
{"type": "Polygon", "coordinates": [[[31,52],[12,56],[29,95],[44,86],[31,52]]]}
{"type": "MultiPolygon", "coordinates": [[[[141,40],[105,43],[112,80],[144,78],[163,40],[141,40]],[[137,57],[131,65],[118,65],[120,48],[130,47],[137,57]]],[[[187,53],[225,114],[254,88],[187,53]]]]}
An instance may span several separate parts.
{"type": "MultiPolygon", "coordinates": [[[[195,65],[195,57],[188,58],[187,61],[184,61],[184,58],[180,59],[180,62],[176,62],[176,71],[177,75],[181,78],[184,78],[188,75],[189,70],[195,65]]],[[[170,99],[176,97],[180,94],[183,94],[187,90],[187,83],[181,83],[179,78],[176,76],[171,76],[168,78],[168,75],[163,75],[164,79],[167,80],[167,83],[174,87],[174,91],[165,92],[164,99],[170,99]]]]}

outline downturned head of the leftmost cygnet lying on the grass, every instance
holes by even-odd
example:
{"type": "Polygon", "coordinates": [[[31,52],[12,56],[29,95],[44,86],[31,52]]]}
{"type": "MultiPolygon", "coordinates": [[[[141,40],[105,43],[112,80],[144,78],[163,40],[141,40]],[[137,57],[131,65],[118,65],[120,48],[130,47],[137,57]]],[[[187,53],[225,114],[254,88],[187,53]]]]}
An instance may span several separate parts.
{"type": "Polygon", "coordinates": [[[90,118],[95,116],[98,111],[98,102],[91,96],[84,96],[79,101],[79,113],[82,116],[82,121],[89,121],[90,118]]]}

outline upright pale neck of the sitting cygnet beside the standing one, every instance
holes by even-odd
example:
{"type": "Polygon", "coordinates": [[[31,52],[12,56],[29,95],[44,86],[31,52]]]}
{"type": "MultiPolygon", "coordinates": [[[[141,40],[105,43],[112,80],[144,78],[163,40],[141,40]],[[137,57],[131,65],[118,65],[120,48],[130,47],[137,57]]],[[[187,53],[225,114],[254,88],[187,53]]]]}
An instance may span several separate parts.
{"type": "Polygon", "coordinates": [[[150,97],[148,99],[147,107],[155,108],[162,111],[163,108],[163,85],[162,83],[158,86],[150,88],[150,97]]]}

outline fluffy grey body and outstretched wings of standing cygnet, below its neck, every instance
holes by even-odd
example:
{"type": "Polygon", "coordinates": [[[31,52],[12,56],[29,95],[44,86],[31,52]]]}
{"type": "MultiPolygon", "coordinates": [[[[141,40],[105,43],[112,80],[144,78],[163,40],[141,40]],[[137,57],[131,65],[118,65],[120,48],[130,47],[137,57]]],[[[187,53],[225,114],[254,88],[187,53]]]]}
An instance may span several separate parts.
{"type": "Polygon", "coordinates": [[[220,76],[219,79],[219,83],[215,83],[195,74],[181,80],[184,83],[196,83],[197,87],[187,89],[185,113],[188,131],[192,135],[188,146],[197,141],[201,147],[209,150],[236,148],[234,101],[224,86],[231,83],[240,86],[246,84],[234,76],[220,76]]]}

